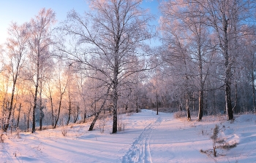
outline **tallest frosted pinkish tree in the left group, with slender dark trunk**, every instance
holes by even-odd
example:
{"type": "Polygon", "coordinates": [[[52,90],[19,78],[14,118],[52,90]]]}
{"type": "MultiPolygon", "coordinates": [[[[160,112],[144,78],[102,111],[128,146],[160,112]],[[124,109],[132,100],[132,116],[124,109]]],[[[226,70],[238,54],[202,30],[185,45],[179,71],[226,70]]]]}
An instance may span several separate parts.
{"type": "Polygon", "coordinates": [[[33,126],[32,133],[35,132],[36,121],[35,111],[37,108],[37,92],[40,80],[40,70],[44,63],[50,57],[49,46],[53,44],[51,37],[51,25],[56,22],[56,15],[52,9],[41,9],[35,18],[29,23],[29,59],[32,65],[33,73],[30,79],[34,81],[34,107],[33,107],[33,126]]]}

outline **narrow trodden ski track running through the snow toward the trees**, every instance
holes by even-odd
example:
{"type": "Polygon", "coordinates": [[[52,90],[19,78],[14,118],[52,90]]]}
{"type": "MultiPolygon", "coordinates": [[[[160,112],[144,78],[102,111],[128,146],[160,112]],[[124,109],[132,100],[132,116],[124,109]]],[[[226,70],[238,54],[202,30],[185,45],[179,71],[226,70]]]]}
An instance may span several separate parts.
{"type": "Polygon", "coordinates": [[[132,143],[127,154],[123,156],[122,163],[145,162],[152,163],[149,140],[155,127],[161,124],[162,118],[159,117],[154,123],[148,124],[141,132],[140,136],[132,143]]]}

